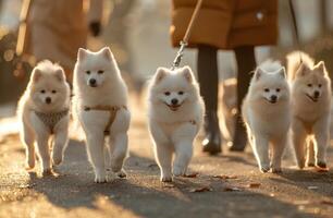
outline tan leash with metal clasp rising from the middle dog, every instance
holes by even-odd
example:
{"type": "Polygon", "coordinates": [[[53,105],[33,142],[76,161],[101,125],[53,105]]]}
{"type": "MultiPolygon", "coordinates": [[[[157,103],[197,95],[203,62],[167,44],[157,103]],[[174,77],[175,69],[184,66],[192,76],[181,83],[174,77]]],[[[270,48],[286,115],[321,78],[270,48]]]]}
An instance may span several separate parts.
{"type": "Polygon", "coordinates": [[[202,5],[202,2],[203,2],[203,0],[198,0],[197,1],[196,8],[195,8],[195,10],[194,10],[194,12],[192,14],[190,20],[189,20],[189,24],[187,26],[185,36],[184,36],[183,40],[181,40],[181,43],[180,43],[181,47],[180,47],[180,49],[177,51],[177,55],[176,55],[175,59],[173,60],[171,70],[174,70],[174,69],[178,68],[181,62],[182,62],[182,59],[184,57],[184,49],[188,45],[188,39],[189,39],[190,34],[193,32],[193,27],[194,27],[195,21],[198,17],[199,10],[200,10],[200,8],[202,5]]]}

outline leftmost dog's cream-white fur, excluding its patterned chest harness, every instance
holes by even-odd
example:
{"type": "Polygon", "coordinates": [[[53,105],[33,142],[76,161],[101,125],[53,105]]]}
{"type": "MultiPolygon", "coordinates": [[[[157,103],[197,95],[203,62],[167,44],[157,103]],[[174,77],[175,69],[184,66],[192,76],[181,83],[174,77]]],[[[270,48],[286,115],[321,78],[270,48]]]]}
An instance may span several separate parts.
{"type": "MultiPolygon", "coordinates": [[[[34,68],[27,88],[21,97],[17,108],[17,118],[22,124],[20,136],[26,147],[27,169],[35,167],[34,143],[36,142],[42,173],[51,171],[49,154],[50,130],[36,116],[35,111],[53,113],[70,109],[70,93],[64,71],[60,65],[46,60],[34,68]],[[47,104],[47,98],[51,99],[49,104],[47,104]]],[[[63,159],[63,153],[67,145],[69,121],[70,114],[63,117],[53,129],[53,165],[59,165],[63,159]]]]}

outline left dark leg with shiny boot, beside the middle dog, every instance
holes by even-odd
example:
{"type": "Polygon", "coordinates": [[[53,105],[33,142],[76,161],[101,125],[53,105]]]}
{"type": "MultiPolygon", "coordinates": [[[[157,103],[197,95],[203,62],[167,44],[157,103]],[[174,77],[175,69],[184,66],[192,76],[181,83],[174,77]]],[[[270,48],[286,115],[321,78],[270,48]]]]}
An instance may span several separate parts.
{"type": "Polygon", "coordinates": [[[218,119],[219,71],[218,49],[198,47],[198,78],[200,93],[206,105],[205,140],[202,150],[211,155],[221,153],[221,132],[218,119]]]}

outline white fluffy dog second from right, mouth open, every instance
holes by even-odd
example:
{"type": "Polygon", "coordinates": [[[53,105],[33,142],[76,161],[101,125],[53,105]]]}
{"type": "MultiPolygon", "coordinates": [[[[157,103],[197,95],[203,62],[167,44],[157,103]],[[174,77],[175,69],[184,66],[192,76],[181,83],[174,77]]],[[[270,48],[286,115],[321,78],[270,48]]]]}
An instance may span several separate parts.
{"type": "Polygon", "coordinates": [[[269,60],[257,68],[242,111],[260,171],[280,172],[288,141],[291,92],[285,69],[279,62],[269,60]]]}

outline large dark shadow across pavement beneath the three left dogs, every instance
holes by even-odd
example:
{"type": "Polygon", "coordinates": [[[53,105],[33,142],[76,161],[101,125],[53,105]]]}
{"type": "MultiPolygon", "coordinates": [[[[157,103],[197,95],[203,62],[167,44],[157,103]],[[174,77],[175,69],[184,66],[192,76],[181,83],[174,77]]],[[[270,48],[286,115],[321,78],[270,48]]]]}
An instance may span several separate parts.
{"type": "MultiPolygon", "coordinates": [[[[239,161],[240,157],[214,158],[213,161],[239,161]]],[[[256,190],[226,191],[229,182],[221,182],[208,174],[198,178],[176,179],[173,184],[159,182],[155,161],[131,155],[126,162],[127,179],[95,184],[83,144],[71,142],[66,159],[59,167],[60,177],[40,178],[29,173],[29,186],[47,201],[64,209],[122,208],[144,217],[312,217],[299,211],[292,204],[256,190]],[[190,192],[210,187],[210,192],[190,192]]],[[[283,179],[283,178],[282,178],[283,179]]]]}

